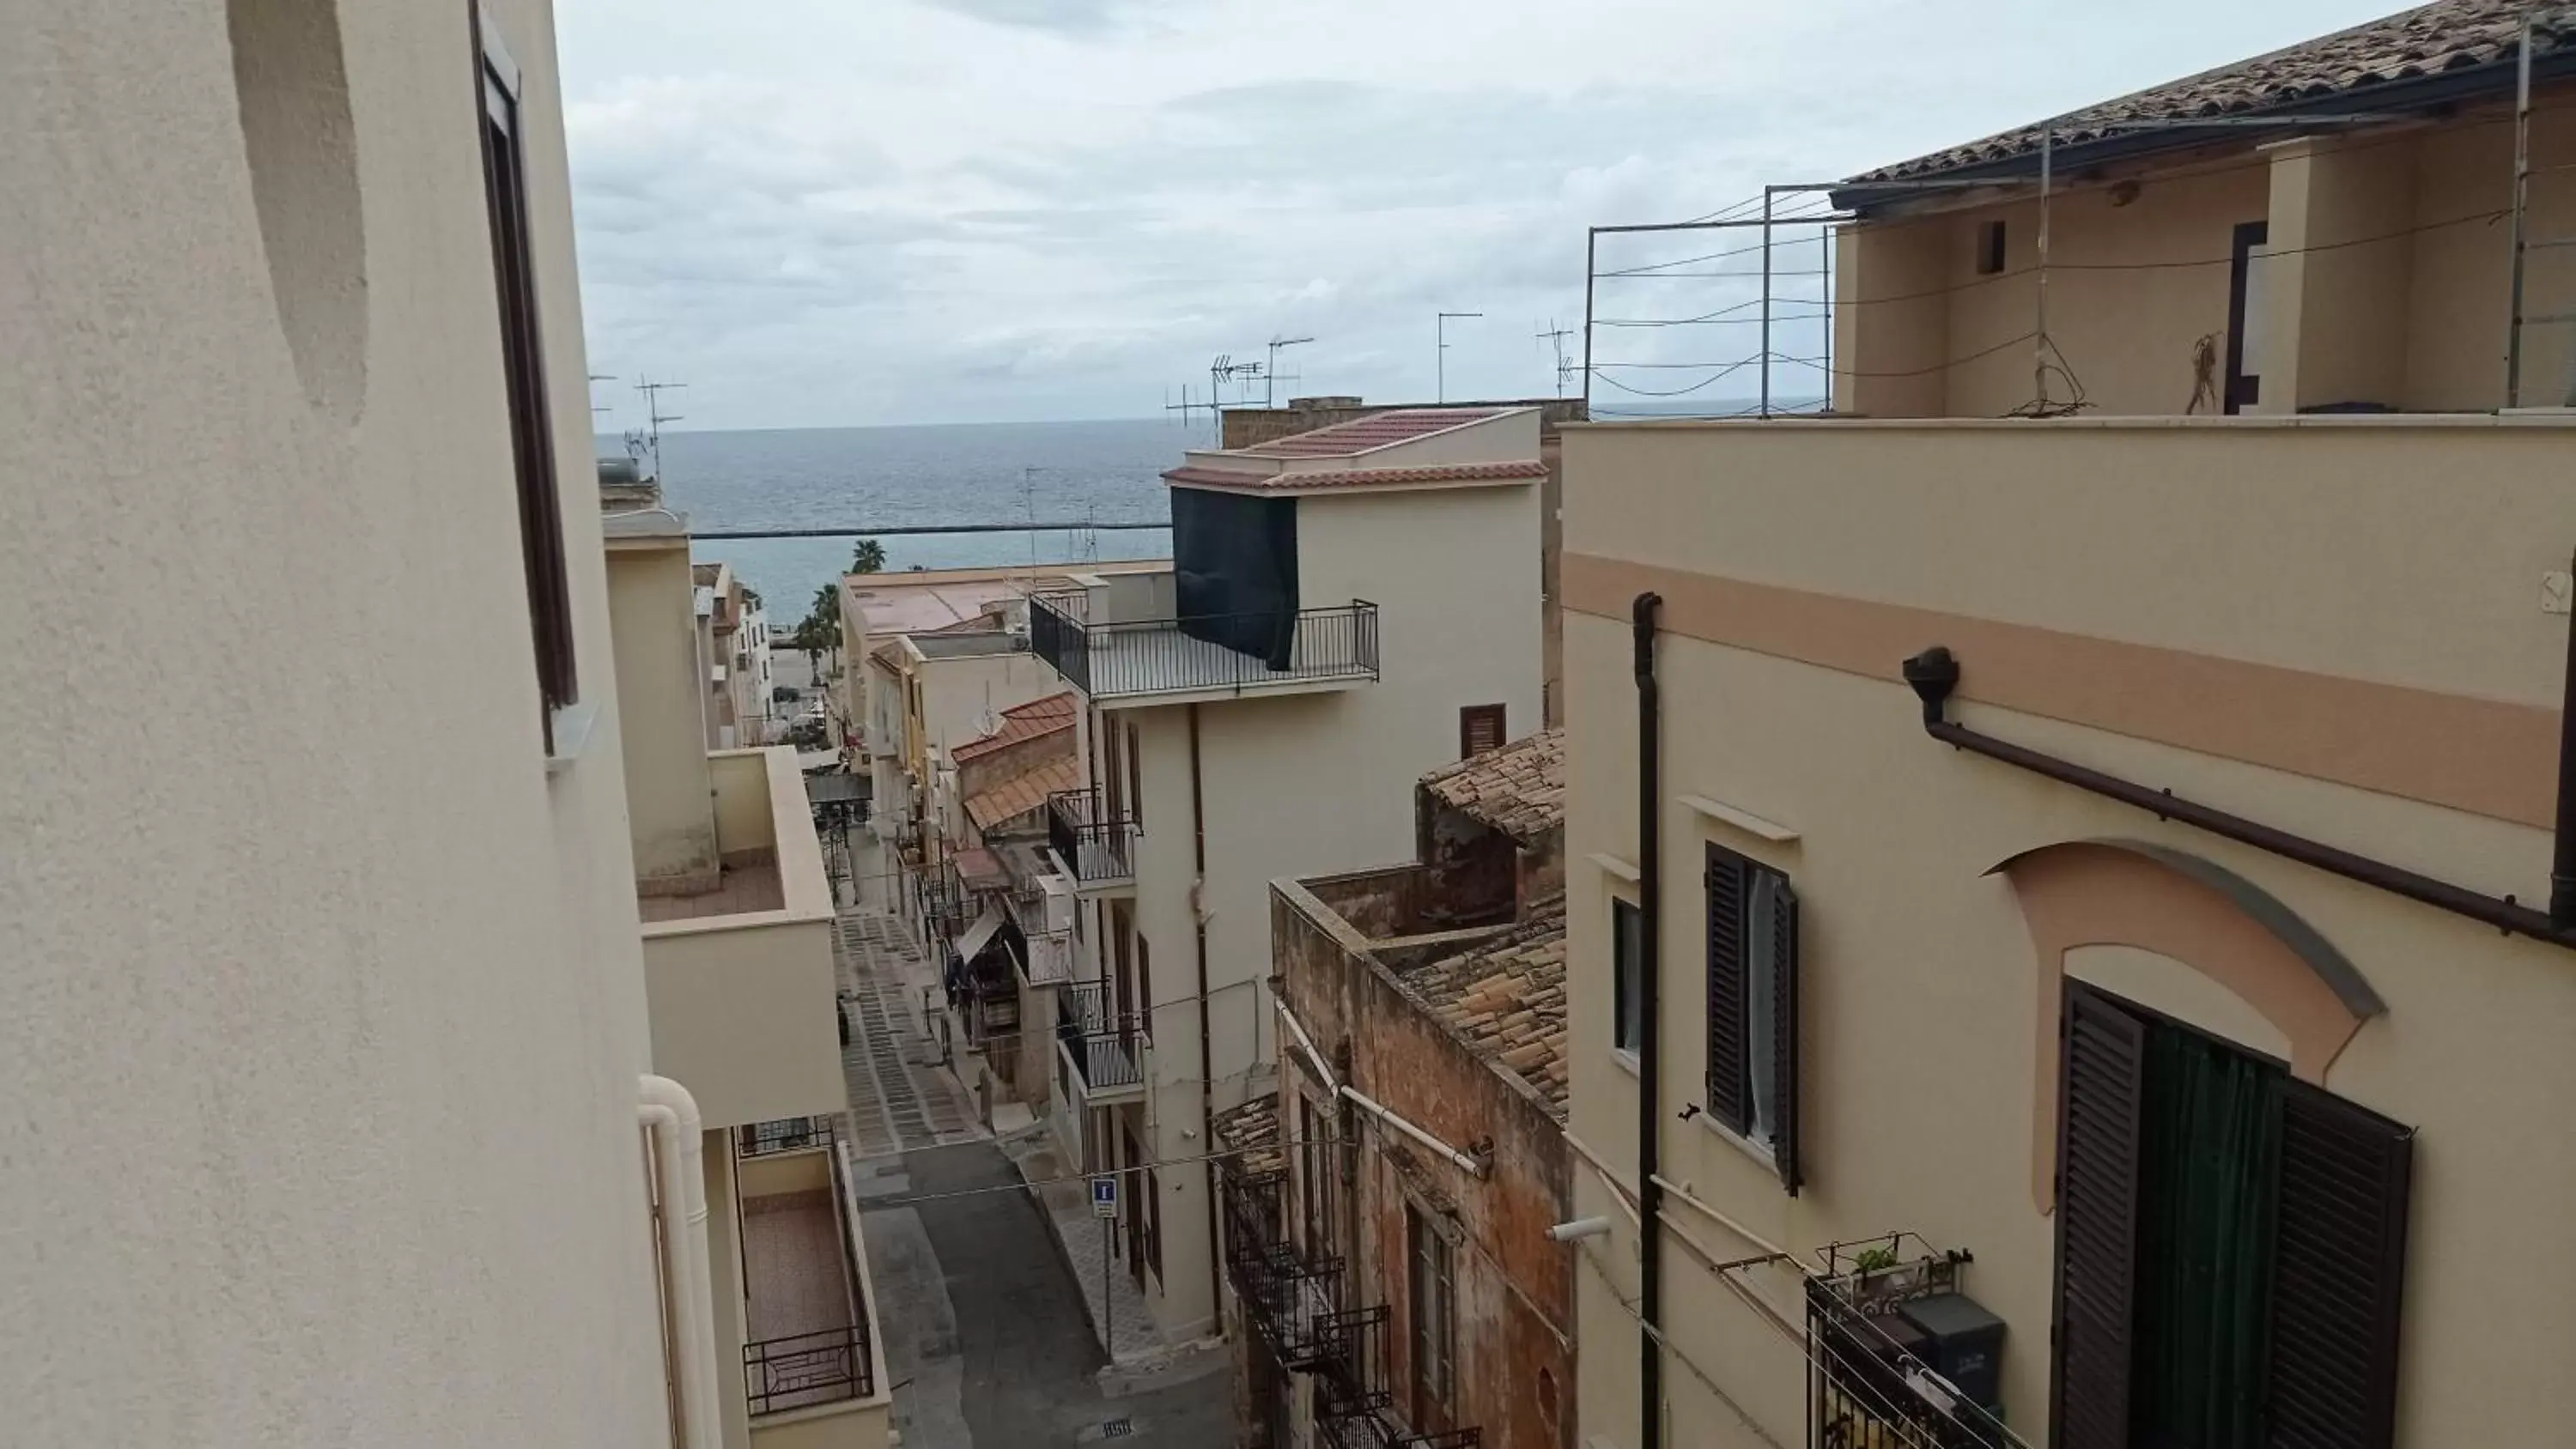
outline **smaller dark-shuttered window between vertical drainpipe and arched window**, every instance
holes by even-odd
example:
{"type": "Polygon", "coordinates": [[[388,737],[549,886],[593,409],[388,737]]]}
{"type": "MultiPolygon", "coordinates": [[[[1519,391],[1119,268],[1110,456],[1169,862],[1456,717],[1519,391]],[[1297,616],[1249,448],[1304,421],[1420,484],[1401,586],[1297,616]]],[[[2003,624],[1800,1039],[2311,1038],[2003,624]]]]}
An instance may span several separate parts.
{"type": "Polygon", "coordinates": [[[1708,1117],[1798,1174],[1798,893],[1708,847],[1708,1117]]]}

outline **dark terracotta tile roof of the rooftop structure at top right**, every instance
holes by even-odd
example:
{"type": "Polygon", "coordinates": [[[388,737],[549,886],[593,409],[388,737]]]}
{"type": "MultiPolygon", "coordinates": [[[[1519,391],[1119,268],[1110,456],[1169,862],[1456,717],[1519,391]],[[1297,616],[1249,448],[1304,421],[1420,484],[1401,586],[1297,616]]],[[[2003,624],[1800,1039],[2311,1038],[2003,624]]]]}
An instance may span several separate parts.
{"type": "MultiPolygon", "coordinates": [[[[2439,0],[2398,15],[2385,15],[2349,31],[2334,31],[2287,49],[2205,69],[2184,80],[2154,85],[2115,100],[2056,116],[2058,144],[2097,142],[2120,121],[2184,121],[2192,116],[2251,116],[2282,108],[2316,108],[2316,100],[2370,85],[2473,69],[2512,62],[2522,44],[2527,0],[2439,0]]],[[[2553,54],[2576,39],[2576,28],[2543,23],[2532,54],[2553,54]]],[[[2512,85],[2509,67],[2496,75],[2496,90],[2512,85]]],[[[1852,183],[1904,180],[1994,165],[2038,154],[2040,121],[1878,167],[1852,183]]]]}

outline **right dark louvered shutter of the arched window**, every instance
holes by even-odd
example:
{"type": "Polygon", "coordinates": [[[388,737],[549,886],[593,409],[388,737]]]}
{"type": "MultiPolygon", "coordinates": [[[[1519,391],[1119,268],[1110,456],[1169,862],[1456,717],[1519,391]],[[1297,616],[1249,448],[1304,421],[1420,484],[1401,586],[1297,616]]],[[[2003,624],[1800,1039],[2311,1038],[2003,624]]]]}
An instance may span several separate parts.
{"type": "Polygon", "coordinates": [[[2275,1449],[2388,1449],[2414,1130],[2282,1084],[2272,1253],[2275,1449]]]}

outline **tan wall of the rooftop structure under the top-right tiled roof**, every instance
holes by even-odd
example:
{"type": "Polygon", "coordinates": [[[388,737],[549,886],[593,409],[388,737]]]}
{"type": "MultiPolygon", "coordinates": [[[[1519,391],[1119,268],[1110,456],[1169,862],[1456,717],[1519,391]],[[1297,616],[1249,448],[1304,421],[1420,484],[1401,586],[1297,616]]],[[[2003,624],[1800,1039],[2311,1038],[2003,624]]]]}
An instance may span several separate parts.
{"type": "MultiPolygon", "coordinates": [[[[2576,108],[2535,95],[2530,232],[2576,232],[2576,108]]],[[[2375,401],[2494,409],[2504,401],[2512,232],[2512,113],[2432,129],[2365,129],[2208,149],[2061,175],[2050,203],[2048,335],[2097,414],[2179,414],[2192,347],[2228,327],[2239,221],[2269,221],[2249,317],[2262,412],[2375,401]],[[2125,203],[2115,183],[2133,183],[2125,203]]],[[[1873,417],[1994,417],[2032,399],[2038,201],[1847,226],[1837,255],[1837,404],[1873,417]],[[2004,221],[2004,275],[1976,273],[1976,239],[2004,221]]],[[[2576,255],[2530,252],[2527,311],[2576,309],[2576,255]]],[[[2524,404],[2561,404],[2576,327],[2524,335],[2524,404]]],[[[2221,355],[2223,365],[2223,355],[2221,355]]],[[[1806,391],[1798,368],[1775,391],[1806,391]]],[[[1785,378],[1785,381],[1783,381],[1785,378]]],[[[2218,378],[2223,389],[2223,373],[2218,378]]],[[[2069,401],[2063,381],[2050,399],[2069,401]]]]}

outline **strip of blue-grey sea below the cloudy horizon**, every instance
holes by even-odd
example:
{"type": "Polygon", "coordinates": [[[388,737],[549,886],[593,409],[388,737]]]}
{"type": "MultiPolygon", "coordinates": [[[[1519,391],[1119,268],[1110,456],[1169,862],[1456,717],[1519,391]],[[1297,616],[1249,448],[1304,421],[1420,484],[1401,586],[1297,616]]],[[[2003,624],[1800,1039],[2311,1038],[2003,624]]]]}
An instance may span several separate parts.
{"type": "MultiPolygon", "coordinates": [[[[1162,471],[1208,430],[1164,420],[997,422],[925,427],[793,427],[665,432],[662,497],[690,528],[891,528],[940,522],[1162,522],[1162,471]]],[[[618,440],[603,438],[600,453],[618,440]]],[[[935,533],[884,538],[886,569],[969,569],[1095,558],[1159,558],[1170,528],[935,533]]],[[[814,589],[850,564],[850,538],[698,543],[770,600],[793,628],[814,589]]]]}

